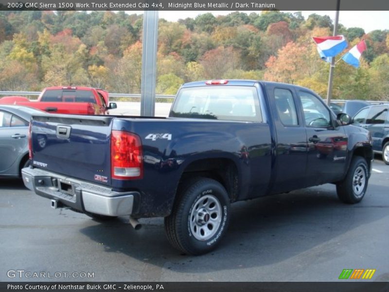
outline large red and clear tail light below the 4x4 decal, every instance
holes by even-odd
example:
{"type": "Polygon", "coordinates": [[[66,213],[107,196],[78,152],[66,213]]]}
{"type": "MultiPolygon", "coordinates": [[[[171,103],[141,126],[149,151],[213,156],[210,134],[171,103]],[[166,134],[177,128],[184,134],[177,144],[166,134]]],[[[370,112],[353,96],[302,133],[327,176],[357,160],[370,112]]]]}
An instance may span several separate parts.
{"type": "Polygon", "coordinates": [[[138,135],[125,131],[112,131],[111,176],[119,180],[143,177],[142,144],[138,135]]]}

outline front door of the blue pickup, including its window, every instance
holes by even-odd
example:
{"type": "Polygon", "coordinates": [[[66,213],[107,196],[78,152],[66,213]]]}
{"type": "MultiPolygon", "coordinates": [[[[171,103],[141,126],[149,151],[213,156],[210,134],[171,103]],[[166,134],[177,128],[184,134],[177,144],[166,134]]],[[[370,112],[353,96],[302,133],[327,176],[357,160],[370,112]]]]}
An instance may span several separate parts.
{"type": "Polygon", "coordinates": [[[297,90],[308,138],[308,185],[333,182],[345,171],[347,136],[322,98],[297,90]]]}

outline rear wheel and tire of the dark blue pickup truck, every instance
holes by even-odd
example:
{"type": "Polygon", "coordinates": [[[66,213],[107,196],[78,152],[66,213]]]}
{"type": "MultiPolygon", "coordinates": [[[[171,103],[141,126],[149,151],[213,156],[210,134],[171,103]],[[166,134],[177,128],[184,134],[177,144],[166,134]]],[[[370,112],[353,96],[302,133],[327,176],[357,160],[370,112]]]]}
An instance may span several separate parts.
{"type": "Polygon", "coordinates": [[[220,183],[199,178],[179,188],[172,213],[165,218],[169,242],[189,255],[212,251],[227,231],[230,198],[220,183]]]}

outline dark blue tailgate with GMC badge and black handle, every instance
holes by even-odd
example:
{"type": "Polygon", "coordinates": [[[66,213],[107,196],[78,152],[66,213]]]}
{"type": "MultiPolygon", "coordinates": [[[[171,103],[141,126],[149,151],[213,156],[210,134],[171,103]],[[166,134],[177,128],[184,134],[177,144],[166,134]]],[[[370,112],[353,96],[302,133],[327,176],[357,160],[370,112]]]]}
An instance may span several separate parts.
{"type": "Polygon", "coordinates": [[[59,114],[33,116],[33,166],[89,182],[110,184],[113,119],[59,114]]]}

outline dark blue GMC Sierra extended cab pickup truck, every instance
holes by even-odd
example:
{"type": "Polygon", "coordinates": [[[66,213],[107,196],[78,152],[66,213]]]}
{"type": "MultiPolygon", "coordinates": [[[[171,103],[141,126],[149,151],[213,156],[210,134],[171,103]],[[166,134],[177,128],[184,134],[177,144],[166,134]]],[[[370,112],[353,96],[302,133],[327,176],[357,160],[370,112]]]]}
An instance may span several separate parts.
{"type": "Polygon", "coordinates": [[[184,84],[168,118],[35,114],[25,185],[109,219],[164,217],[170,243],[211,251],[230,203],[335,183],[339,199],[365,195],[371,136],[313,91],[249,80],[184,84]]]}

